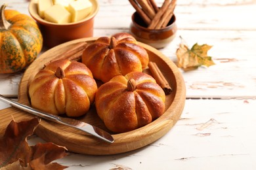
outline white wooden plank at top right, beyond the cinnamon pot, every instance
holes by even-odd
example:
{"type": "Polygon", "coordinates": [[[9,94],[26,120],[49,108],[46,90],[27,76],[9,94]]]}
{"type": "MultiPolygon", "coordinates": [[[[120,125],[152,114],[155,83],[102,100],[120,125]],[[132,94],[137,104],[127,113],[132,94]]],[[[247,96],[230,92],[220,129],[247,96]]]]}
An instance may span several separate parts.
{"type": "Polygon", "coordinates": [[[255,1],[177,1],[175,14],[181,29],[255,30],[255,1]]]}

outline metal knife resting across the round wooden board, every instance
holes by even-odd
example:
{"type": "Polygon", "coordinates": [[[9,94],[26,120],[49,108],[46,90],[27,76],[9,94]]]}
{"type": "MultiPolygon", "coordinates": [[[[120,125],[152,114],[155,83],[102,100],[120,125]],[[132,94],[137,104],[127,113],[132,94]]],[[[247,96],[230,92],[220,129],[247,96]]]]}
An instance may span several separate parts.
{"type": "Polygon", "coordinates": [[[89,133],[89,134],[91,134],[95,137],[98,137],[99,139],[102,139],[103,141],[106,141],[108,143],[114,142],[114,138],[112,137],[112,135],[110,135],[110,133],[108,133],[96,126],[92,126],[90,124],[87,124],[85,122],[81,122],[79,120],[75,120],[72,118],[63,118],[60,116],[49,114],[47,112],[42,112],[41,110],[33,109],[32,107],[28,107],[27,105],[22,105],[16,101],[8,99],[7,97],[4,97],[3,95],[0,95],[0,100],[11,105],[12,107],[16,107],[20,110],[24,110],[26,112],[29,112],[29,113],[35,115],[35,116],[39,116],[41,118],[51,120],[58,124],[64,124],[66,126],[74,127],[75,129],[79,129],[81,131],[89,133]]]}

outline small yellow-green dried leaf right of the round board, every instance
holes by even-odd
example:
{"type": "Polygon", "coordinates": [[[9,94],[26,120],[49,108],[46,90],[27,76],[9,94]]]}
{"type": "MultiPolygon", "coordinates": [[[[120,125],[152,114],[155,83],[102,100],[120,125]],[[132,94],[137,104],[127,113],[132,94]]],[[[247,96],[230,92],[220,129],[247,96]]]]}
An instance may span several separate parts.
{"type": "Polygon", "coordinates": [[[215,65],[210,56],[207,56],[207,52],[212,46],[207,44],[198,45],[194,44],[191,49],[185,44],[180,44],[176,51],[178,59],[178,67],[184,70],[196,69],[202,65],[207,67],[215,65]]]}

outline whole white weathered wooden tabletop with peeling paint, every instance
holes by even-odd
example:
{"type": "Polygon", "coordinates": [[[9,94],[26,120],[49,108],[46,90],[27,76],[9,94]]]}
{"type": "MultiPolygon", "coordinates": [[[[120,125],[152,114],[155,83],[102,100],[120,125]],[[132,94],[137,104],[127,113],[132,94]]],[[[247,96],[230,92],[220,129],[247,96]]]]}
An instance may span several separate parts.
{"type": "MultiPolygon", "coordinates": [[[[135,11],[129,1],[98,2],[94,36],[127,32],[135,11]]],[[[2,3],[29,14],[28,1],[2,3]]],[[[175,127],[139,150],[112,156],[70,154],[56,161],[68,169],[256,169],[255,9],[255,0],[178,0],[177,37],[160,51],[177,61],[181,36],[190,47],[196,42],[213,45],[208,54],[216,65],[181,70],[187,99],[175,127]]],[[[15,97],[21,76],[0,75],[0,93],[15,97]]],[[[5,107],[0,103],[0,109],[5,107]]],[[[29,142],[39,141],[34,137],[29,142]]]]}

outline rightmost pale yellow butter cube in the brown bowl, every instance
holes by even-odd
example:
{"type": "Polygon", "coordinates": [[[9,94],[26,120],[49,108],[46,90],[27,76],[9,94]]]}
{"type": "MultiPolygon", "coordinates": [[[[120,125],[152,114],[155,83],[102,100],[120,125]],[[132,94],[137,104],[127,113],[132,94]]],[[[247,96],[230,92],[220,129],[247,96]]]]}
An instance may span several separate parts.
{"type": "Polygon", "coordinates": [[[89,0],[72,1],[69,6],[70,13],[72,14],[71,22],[83,20],[91,13],[92,3],[89,0]]]}

